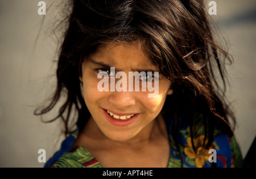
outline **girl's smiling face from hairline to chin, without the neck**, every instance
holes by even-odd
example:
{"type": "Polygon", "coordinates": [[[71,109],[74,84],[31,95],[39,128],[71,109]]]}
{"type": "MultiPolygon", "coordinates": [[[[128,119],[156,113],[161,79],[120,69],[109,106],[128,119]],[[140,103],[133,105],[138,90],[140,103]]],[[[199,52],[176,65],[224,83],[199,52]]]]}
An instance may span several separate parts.
{"type": "MultiPolygon", "coordinates": [[[[135,91],[135,84],[133,84],[134,90],[129,90],[129,80],[131,80],[129,72],[147,72],[149,69],[153,75],[154,72],[159,71],[157,66],[151,64],[137,43],[110,43],[86,57],[82,64],[82,77],[80,77],[83,83],[84,100],[97,127],[109,139],[127,141],[140,133],[149,131],[154,126],[154,119],[162,110],[167,94],[172,94],[171,82],[159,73],[159,91],[154,98],[148,97],[148,94],[153,93],[148,89],[135,91]],[[126,74],[126,91],[110,90],[110,78],[113,80],[115,75],[113,72],[110,73],[110,67],[115,67],[115,73],[126,74]],[[103,77],[97,78],[98,73],[109,73],[109,76],[112,76],[105,77],[103,80],[105,82],[109,80],[108,91],[98,89],[98,84],[103,79],[103,77]]],[[[150,76],[146,78],[139,78],[140,86],[143,82],[147,84],[151,80],[154,83],[154,78],[150,76]]],[[[115,78],[115,83],[119,80],[121,79],[115,78]]],[[[135,83],[136,79],[133,81],[135,83]]],[[[155,85],[157,85],[156,82],[155,85]]]]}

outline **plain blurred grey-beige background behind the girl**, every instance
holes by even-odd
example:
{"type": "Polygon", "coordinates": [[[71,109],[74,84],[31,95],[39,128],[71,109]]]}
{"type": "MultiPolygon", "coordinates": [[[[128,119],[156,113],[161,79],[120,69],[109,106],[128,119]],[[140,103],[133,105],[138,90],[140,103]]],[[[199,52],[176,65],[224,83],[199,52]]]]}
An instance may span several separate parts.
{"type": "MultiPolygon", "coordinates": [[[[59,0],[58,0],[59,1],[59,0]]],[[[57,44],[51,35],[57,9],[38,15],[36,0],[0,1],[0,167],[42,167],[60,147],[61,123],[42,123],[34,110],[55,89],[57,44]]],[[[45,1],[47,6],[50,1],[45,1]]],[[[208,2],[206,8],[209,9],[208,2]]],[[[213,18],[229,38],[234,65],[228,68],[228,99],[237,117],[235,131],[245,157],[256,134],[256,1],[219,0],[213,18]]],[[[51,116],[48,116],[49,118],[51,116]]]]}

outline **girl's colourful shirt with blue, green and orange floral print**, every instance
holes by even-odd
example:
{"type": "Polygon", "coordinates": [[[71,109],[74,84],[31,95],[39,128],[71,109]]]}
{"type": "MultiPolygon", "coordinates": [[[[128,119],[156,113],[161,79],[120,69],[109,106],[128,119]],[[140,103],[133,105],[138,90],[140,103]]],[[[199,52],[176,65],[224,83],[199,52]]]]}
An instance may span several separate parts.
{"type": "MultiPolygon", "coordinates": [[[[175,147],[175,141],[171,135],[173,118],[164,118],[168,127],[170,136],[170,159],[168,168],[181,167],[180,154],[175,147]]],[[[191,132],[188,126],[189,119],[179,120],[179,132],[177,139],[180,145],[181,156],[183,157],[183,167],[242,167],[243,160],[240,147],[234,136],[230,137],[222,134],[218,130],[214,131],[214,139],[210,148],[203,148],[204,143],[204,125],[202,116],[199,114],[195,117],[196,126],[194,127],[196,134],[194,135],[194,147],[192,147],[191,132]]],[[[61,143],[61,148],[51,159],[49,159],[44,167],[86,167],[86,168],[102,168],[103,166],[95,159],[85,147],[80,146],[75,152],[70,152],[75,142],[78,130],[73,132],[68,138],[61,143]]],[[[207,143],[207,141],[205,141],[207,143]]]]}

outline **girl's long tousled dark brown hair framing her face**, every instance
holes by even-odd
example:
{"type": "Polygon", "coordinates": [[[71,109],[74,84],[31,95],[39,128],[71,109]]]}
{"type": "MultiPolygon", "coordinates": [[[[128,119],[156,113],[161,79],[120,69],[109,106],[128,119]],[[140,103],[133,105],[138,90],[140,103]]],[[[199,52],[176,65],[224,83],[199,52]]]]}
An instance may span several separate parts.
{"type": "MultiPolygon", "coordinates": [[[[181,114],[203,114],[209,147],[214,129],[233,135],[228,118],[235,119],[225,103],[225,61],[230,55],[213,39],[209,15],[201,0],[73,0],[68,27],[57,64],[57,89],[51,103],[38,115],[55,107],[62,92],[67,93],[57,118],[68,122],[75,106],[77,125],[82,127],[90,113],[81,94],[81,64],[84,57],[105,43],[138,41],[150,60],[172,82],[174,93],[167,97],[163,111],[174,115],[172,130],[177,148],[177,120],[181,114]],[[220,78],[219,83],[216,78],[220,78]],[[221,88],[224,86],[224,88],[221,88]],[[171,112],[170,112],[171,111],[171,112]],[[67,113],[67,114],[65,114],[67,113]],[[64,115],[65,114],[65,115],[64,115]]],[[[51,121],[53,121],[51,120],[51,121]]],[[[193,117],[190,119],[193,138],[193,117]]],[[[180,154],[181,155],[181,154],[180,154]]],[[[181,157],[182,160],[182,157],[181,157]]]]}

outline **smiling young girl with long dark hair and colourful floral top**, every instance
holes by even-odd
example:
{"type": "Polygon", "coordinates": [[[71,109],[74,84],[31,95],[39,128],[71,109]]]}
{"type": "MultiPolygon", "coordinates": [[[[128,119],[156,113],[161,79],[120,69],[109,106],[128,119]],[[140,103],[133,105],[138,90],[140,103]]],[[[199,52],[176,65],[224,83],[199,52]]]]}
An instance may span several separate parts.
{"type": "Polygon", "coordinates": [[[229,122],[235,119],[220,88],[230,56],[213,39],[203,1],[73,0],[70,6],[57,89],[38,114],[64,97],[55,119],[68,135],[75,111],[77,130],[46,167],[242,166],[229,122]],[[113,90],[118,73],[121,90],[113,90]],[[158,89],[154,97],[148,85],[158,89]]]}

